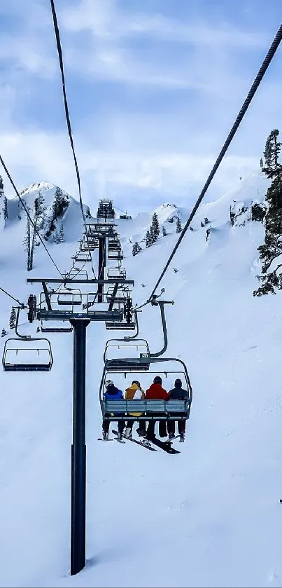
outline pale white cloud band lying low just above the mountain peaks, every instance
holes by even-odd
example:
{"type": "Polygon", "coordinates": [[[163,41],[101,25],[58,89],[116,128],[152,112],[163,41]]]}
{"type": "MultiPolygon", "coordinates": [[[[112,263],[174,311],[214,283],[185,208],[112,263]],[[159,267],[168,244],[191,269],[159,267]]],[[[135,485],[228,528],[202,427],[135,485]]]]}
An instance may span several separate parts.
{"type": "MultiPolygon", "coordinates": [[[[58,184],[78,198],[76,175],[66,135],[41,132],[4,134],[1,137],[5,163],[20,191],[32,182],[46,181],[58,184]]],[[[83,179],[83,200],[95,207],[99,198],[111,193],[119,198],[120,205],[128,205],[130,190],[146,190],[143,204],[160,204],[167,195],[178,203],[189,205],[190,198],[202,188],[209,175],[214,158],[195,156],[192,153],[160,152],[120,153],[85,149],[83,139],[76,141],[76,151],[83,179]],[[125,195],[125,196],[124,196],[125,195]]],[[[232,182],[257,167],[255,158],[228,156],[216,177],[215,191],[220,194],[232,186],[232,182]],[[223,189],[224,186],[224,189],[223,189]]],[[[14,198],[13,189],[5,181],[7,196],[14,198]]],[[[140,202],[131,199],[132,210],[140,208],[140,202]]]]}

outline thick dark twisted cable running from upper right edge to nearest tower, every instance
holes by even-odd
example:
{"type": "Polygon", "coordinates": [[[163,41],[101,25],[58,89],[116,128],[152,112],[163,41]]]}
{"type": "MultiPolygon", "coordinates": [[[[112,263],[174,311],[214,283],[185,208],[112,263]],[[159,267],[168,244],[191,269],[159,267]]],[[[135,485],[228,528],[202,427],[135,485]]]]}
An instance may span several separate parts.
{"type": "MultiPolygon", "coordinates": [[[[262,62],[262,65],[258,71],[258,75],[255,77],[255,80],[253,81],[253,85],[251,86],[251,89],[248,92],[246,100],[244,101],[244,104],[241,107],[241,110],[239,111],[239,114],[238,114],[238,116],[232,126],[232,129],[230,130],[229,135],[227,136],[225,144],[223,145],[223,148],[221,149],[221,151],[218,155],[216,163],[213,165],[211,173],[210,173],[208,179],[206,180],[206,184],[204,184],[204,188],[202,189],[202,192],[200,193],[199,198],[197,199],[197,202],[195,203],[195,206],[192,209],[192,212],[190,213],[190,217],[188,218],[188,221],[186,222],[186,224],[183,228],[183,231],[181,232],[181,235],[179,236],[178,241],[176,242],[176,245],[174,245],[174,249],[172,250],[172,252],[169,256],[169,259],[167,260],[167,263],[165,264],[164,269],[162,270],[160,278],[157,280],[157,283],[153,289],[153,292],[150,294],[149,299],[145,303],[143,303],[141,306],[139,306],[138,308],[142,308],[143,306],[146,306],[146,304],[150,303],[151,299],[153,298],[153,296],[155,294],[157,287],[160,285],[160,282],[161,282],[162,278],[164,277],[164,274],[166,273],[167,268],[169,267],[169,264],[171,263],[171,260],[174,257],[174,254],[176,254],[176,250],[178,249],[179,245],[181,244],[181,241],[183,240],[183,237],[184,237],[186,231],[188,231],[188,228],[191,224],[191,221],[195,217],[197,209],[199,208],[199,205],[202,203],[204,195],[206,194],[206,191],[209,188],[209,185],[211,184],[211,181],[212,181],[214,175],[216,174],[216,171],[218,170],[218,167],[219,167],[220,163],[222,162],[223,157],[225,156],[225,153],[226,153],[228,147],[230,146],[230,143],[232,142],[232,139],[234,138],[234,135],[236,134],[236,132],[239,128],[239,125],[240,125],[241,121],[243,120],[243,118],[246,114],[246,111],[251,104],[251,101],[253,100],[255,92],[258,90],[258,87],[260,86],[260,82],[262,81],[262,78],[265,76],[265,73],[267,71],[267,68],[269,67],[269,64],[272,62],[272,59],[276,53],[276,50],[279,48],[279,44],[281,43],[281,39],[282,39],[282,25],[280,25],[280,27],[276,33],[274,41],[273,41],[272,45],[270,46],[269,51],[265,57],[265,60],[262,62]]],[[[138,310],[138,308],[135,308],[134,310],[138,310]]]]}

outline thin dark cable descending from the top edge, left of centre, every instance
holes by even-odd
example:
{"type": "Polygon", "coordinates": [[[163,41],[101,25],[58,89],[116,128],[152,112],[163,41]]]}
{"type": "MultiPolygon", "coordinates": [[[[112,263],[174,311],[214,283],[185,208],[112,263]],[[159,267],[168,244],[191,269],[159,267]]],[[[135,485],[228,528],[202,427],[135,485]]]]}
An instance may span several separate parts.
{"type": "Polygon", "coordinates": [[[56,11],[55,11],[54,0],[50,0],[50,3],[51,3],[51,10],[52,10],[52,18],[53,18],[53,24],[54,24],[55,37],[56,37],[56,42],[57,42],[57,53],[58,53],[58,57],[59,57],[59,69],[61,71],[61,78],[62,78],[62,91],[63,91],[63,96],[64,96],[64,111],[65,111],[65,115],[66,115],[66,126],[67,126],[68,133],[69,133],[69,141],[71,143],[71,151],[73,153],[74,165],[76,167],[76,179],[77,179],[77,183],[78,183],[78,194],[79,194],[80,210],[81,210],[81,214],[82,214],[82,217],[83,217],[83,223],[84,223],[84,226],[85,226],[85,236],[86,236],[88,251],[90,253],[92,273],[94,274],[94,278],[96,279],[95,272],[94,272],[92,255],[91,255],[91,252],[90,252],[90,247],[89,247],[89,242],[88,242],[87,224],[86,224],[85,214],[84,214],[84,210],[83,210],[83,200],[82,200],[82,197],[81,197],[80,173],[79,173],[79,170],[78,170],[78,161],[77,161],[77,158],[76,158],[76,151],[74,149],[74,144],[73,144],[73,135],[72,135],[72,131],[71,131],[71,119],[70,119],[70,116],[69,116],[69,107],[68,107],[68,102],[67,102],[67,99],[66,99],[66,81],[65,81],[65,78],[64,78],[64,60],[63,60],[63,55],[62,55],[62,45],[61,45],[61,41],[60,41],[60,38],[59,38],[59,26],[58,26],[58,21],[57,21],[57,14],[56,14],[56,11]]]}

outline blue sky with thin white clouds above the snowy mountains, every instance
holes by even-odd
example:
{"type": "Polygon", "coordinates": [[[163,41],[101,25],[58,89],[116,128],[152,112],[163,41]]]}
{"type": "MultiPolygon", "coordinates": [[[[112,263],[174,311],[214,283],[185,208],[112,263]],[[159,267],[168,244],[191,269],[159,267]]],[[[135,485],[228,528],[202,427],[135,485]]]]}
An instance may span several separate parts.
{"type": "MultiPolygon", "coordinates": [[[[83,200],[135,213],[197,198],[281,22],[281,0],[57,0],[83,200]]],[[[19,189],[78,197],[49,0],[0,4],[1,154],[19,189]]],[[[206,200],[281,125],[282,48],[206,200]]],[[[5,181],[5,175],[3,175],[5,181]]],[[[8,181],[6,193],[12,196],[8,181]]]]}

